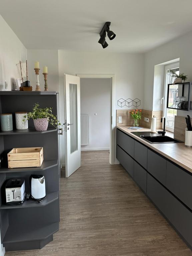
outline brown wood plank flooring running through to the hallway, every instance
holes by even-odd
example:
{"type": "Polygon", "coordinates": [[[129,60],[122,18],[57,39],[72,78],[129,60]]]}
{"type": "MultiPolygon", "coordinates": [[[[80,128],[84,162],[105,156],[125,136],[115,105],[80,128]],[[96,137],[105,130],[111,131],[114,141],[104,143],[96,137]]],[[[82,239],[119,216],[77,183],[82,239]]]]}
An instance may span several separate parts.
{"type": "Polygon", "coordinates": [[[191,250],[108,151],[83,151],[60,180],[60,230],[41,250],[6,256],[192,256],[191,250]]]}

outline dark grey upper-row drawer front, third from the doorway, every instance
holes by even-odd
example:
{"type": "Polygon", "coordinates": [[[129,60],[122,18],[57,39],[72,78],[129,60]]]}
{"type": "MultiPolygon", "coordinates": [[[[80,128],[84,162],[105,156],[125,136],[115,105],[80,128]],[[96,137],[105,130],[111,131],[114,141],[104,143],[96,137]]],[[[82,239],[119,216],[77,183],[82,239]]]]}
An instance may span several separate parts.
{"type": "Polygon", "coordinates": [[[166,183],[167,161],[148,149],[147,152],[147,171],[150,172],[163,185],[166,183]]]}

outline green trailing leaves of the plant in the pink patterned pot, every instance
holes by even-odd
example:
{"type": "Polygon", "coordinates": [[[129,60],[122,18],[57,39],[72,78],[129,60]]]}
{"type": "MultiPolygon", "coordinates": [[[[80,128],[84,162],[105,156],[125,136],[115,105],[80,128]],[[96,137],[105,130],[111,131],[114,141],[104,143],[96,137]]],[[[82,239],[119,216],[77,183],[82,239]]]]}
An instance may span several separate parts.
{"type": "Polygon", "coordinates": [[[39,108],[39,104],[35,103],[33,107],[33,111],[29,112],[27,115],[23,116],[23,122],[26,122],[30,118],[38,119],[38,118],[47,118],[48,122],[52,124],[55,128],[61,126],[59,120],[57,120],[57,116],[52,114],[52,108],[39,108]]]}

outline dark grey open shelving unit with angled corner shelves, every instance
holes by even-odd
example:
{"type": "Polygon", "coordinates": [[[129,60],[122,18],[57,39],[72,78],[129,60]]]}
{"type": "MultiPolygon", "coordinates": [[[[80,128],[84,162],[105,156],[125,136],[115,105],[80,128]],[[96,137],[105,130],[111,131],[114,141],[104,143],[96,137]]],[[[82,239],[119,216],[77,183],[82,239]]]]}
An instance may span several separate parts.
{"type": "Polygon", "coordinates": [[[0,131],[0,229],[1,243],[6,251],[41,249],[53,240],[59,229],[59,164],[58,132],[52,125],[47,131],[35,130],[33,120],[29,129],[16,130],[17,111],[32,111],[33,105],[52,107],[58,112],[57,92],[0,92],[0,113],[13,113],[13,131],[0,131]],[[44,161],[41,167],[8,168],[7,153],[15,147],[43,147],[44,161]],[[46,182],[46,199],[38,203],[32,199],[21,205],[5,203],[5,182],[10,178],[25,178],[26,192],[30,193],[29,177],[42,174],[46,182]]]}

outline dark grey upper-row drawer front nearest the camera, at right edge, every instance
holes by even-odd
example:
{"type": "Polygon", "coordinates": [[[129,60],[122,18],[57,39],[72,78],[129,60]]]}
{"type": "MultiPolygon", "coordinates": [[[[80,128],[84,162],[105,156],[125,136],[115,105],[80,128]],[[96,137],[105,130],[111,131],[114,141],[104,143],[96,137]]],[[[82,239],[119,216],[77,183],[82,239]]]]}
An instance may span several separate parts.
{"type": "Polygon", "coordinates": [[[166,187],[192,209],[192,175],[167,161],[166,187]]]}

